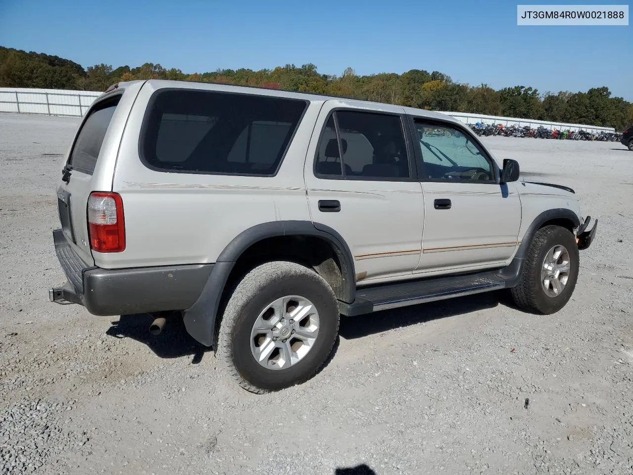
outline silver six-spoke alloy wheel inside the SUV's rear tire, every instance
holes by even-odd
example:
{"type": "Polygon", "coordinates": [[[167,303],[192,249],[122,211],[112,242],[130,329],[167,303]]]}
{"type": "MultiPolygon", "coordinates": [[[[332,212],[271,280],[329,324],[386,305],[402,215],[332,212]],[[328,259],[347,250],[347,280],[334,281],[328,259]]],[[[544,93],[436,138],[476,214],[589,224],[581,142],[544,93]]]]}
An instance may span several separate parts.
{"type": "Polygon", "coordinates": [[[253,324],[251,353],[265,368],[287,369],[310,352],[318,331],[318,312],[310,300],[297,295],[278,298],[253,324]]]}

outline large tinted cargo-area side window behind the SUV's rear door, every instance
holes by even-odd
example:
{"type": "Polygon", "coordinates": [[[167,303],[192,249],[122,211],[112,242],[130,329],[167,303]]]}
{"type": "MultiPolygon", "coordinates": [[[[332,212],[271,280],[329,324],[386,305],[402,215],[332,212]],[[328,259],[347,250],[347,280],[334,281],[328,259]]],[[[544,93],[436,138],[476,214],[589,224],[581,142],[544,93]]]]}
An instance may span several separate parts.
{"type": "Polygon", "coordinates": [[[148,107],[141,158],[167,172],[274,175],[307,105],[299,99],[163,89],[148,107]]]}

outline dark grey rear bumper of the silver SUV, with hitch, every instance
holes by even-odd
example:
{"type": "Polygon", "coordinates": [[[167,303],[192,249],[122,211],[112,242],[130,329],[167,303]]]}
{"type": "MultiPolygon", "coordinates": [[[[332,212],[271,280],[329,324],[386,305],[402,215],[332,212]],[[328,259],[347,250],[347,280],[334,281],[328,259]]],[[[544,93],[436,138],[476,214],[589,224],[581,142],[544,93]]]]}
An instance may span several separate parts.
{"type": "Polygon", "coordinates": [[[78,303],[93,315],[127,315],[184,310],[199,298],[213,264],[134,269],[90,267],[77,256],[61,229],[53,231],[65,286],[49,290],[49,300],[78,303]]]}

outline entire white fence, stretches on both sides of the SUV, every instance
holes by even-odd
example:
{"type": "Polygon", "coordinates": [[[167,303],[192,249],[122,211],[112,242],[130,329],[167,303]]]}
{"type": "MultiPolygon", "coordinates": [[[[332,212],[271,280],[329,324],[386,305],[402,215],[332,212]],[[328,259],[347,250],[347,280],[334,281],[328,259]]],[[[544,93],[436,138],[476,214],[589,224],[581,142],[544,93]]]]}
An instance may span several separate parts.
{"type": "MultiPolygon", "coordinates": [[[[20,112],[30,114],[68,115],[81,117],[101,92],[65,91],[61,89],[27,89],[0,87],[0,112],[20,112]]],[[[470,114],[464,112],[441,112],[465,124],[527,125],[530,128],[546,127],[558,130],[586,130],[587,132],[614,132],[613,127],[595,125],[563,124],[546,120],[532,120],[496,115],[470,114]]]]}

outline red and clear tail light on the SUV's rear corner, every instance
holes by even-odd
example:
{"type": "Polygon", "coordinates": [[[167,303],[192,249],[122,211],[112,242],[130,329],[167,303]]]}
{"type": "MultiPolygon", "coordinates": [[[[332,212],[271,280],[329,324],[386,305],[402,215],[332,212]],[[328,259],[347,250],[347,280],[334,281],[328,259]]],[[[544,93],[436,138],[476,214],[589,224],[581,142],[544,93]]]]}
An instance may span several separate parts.
{"type": "Polygon", "coordinates": [[[118,193],[94,192],[88,198],[90,247],[97,252],[125,250],[123,201],[118,193]]]}

